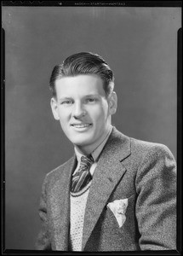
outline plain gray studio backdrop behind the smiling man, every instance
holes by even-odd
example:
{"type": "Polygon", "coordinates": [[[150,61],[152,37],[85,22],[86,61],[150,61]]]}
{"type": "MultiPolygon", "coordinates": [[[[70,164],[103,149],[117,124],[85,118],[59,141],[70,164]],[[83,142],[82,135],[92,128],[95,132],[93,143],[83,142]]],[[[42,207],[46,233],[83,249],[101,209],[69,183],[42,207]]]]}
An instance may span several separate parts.
{"type": "Polygon", "coordinates": [[[3,7],[5,30],[5,241],[34,249],[46,173],[73,148],[55,121],[49,77],[68,55],[92,51],[115,73],[112,124],[164,143],[176,158],[180,8],[3,7]]]}

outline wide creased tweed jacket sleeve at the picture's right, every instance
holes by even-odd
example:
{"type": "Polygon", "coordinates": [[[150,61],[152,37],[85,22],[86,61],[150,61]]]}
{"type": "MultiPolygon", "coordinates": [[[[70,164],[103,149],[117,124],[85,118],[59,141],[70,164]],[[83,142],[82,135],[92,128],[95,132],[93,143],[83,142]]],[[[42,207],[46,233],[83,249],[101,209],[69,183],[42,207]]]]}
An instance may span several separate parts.
{"type": "Polygon", "coordinates": [[[176,164],[169,148],[146,151],[136,176],[141,250],[176,249],[176,164]]]}

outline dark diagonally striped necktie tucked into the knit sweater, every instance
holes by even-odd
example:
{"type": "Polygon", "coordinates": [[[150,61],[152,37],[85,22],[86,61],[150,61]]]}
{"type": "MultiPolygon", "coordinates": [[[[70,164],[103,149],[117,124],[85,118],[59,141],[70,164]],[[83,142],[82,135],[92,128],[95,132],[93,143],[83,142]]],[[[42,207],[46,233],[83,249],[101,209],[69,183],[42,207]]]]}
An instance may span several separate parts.
{"type": "Polygon", "coordinates": [[[93,163],[94,159],[91,154],[81,157],[79,169],[72,177],[71,192],[78,192],[89,183],[92,179],[89,169],[93,163]]]}

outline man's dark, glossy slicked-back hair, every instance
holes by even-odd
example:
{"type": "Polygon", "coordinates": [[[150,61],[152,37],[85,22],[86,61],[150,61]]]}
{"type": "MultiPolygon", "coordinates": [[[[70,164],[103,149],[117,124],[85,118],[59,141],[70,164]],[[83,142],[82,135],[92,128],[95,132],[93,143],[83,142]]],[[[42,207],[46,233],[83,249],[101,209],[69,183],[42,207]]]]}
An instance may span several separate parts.
{"type": "Polygon", "coordinates": [[[56,98],[55,81],[64,77],[74,77],[79,74],[95,74],[103,80],[106,97],[110,96],[114,88],[112,69],[106,61],[97,54],[80,52],[66,58],[61,64],[56,65],[51,73],[49,89],[56,98]]]}

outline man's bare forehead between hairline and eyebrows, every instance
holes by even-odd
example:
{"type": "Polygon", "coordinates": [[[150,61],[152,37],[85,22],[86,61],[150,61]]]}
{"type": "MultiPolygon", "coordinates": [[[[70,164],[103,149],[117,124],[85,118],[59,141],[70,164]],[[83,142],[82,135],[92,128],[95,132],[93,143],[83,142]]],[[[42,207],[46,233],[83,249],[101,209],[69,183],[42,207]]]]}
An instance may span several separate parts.
{"type": "Polygon", "coordinates": [[[105,96],[103,80],[97,75],[84,74],[74,77],[63,77],[55,81],[57,95],[89,95],[105,96]]]}

